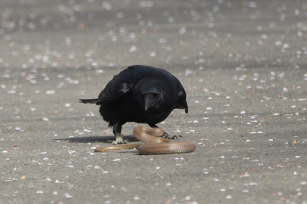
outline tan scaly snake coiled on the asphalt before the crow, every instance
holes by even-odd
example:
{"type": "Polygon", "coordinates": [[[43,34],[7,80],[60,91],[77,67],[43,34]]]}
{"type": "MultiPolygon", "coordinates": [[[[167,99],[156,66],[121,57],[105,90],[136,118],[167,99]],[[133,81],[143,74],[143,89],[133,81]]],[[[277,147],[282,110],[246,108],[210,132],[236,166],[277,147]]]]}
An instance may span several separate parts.
{"type": "Polygon", "coordinates": [[[158,155],[158,154],[178,154],[195,151],[195,144],[192,142],[172,142],[163,137],[163,128],[149,128],[145,126],[134,127],[133,136],[146,144],[125,144],[117,146],[108,146],[97,148],[95,152],[111,152],[124,149],[138,150],[140,155],[158,155]]]}

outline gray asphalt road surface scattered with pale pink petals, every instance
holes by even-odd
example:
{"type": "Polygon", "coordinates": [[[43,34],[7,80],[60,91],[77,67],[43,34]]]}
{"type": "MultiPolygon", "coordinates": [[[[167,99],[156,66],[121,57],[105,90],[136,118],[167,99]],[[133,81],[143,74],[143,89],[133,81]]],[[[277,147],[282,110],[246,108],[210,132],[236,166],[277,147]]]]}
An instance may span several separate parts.
{"type": "MultiPolygon", "coordinates": [[[[305,1],[1,1],[0,203],[307,203],[305,1]],[[94,153],[93,98],[143,64],[185,87],[187,154],[94,153]]],[[[133,138],[135,123],[123,126],[133,138]]]]}

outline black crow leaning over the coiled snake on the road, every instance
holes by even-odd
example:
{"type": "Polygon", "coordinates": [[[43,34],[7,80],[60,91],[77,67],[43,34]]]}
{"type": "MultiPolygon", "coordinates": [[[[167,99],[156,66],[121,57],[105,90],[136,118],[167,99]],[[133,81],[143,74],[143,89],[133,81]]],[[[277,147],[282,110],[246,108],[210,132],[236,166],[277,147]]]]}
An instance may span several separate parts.
{"type": "Polygon", "coordinates": [[[81,103],[100,105],[99,113],[113,127],[116,140],[122,139],[126,122],[147,123],[157,128],[174,109],[188,113],[186,93],[180,81],[168,71],[143,65],[133,65],[115,75],[95,99],[79,99],[81,103]]]}

